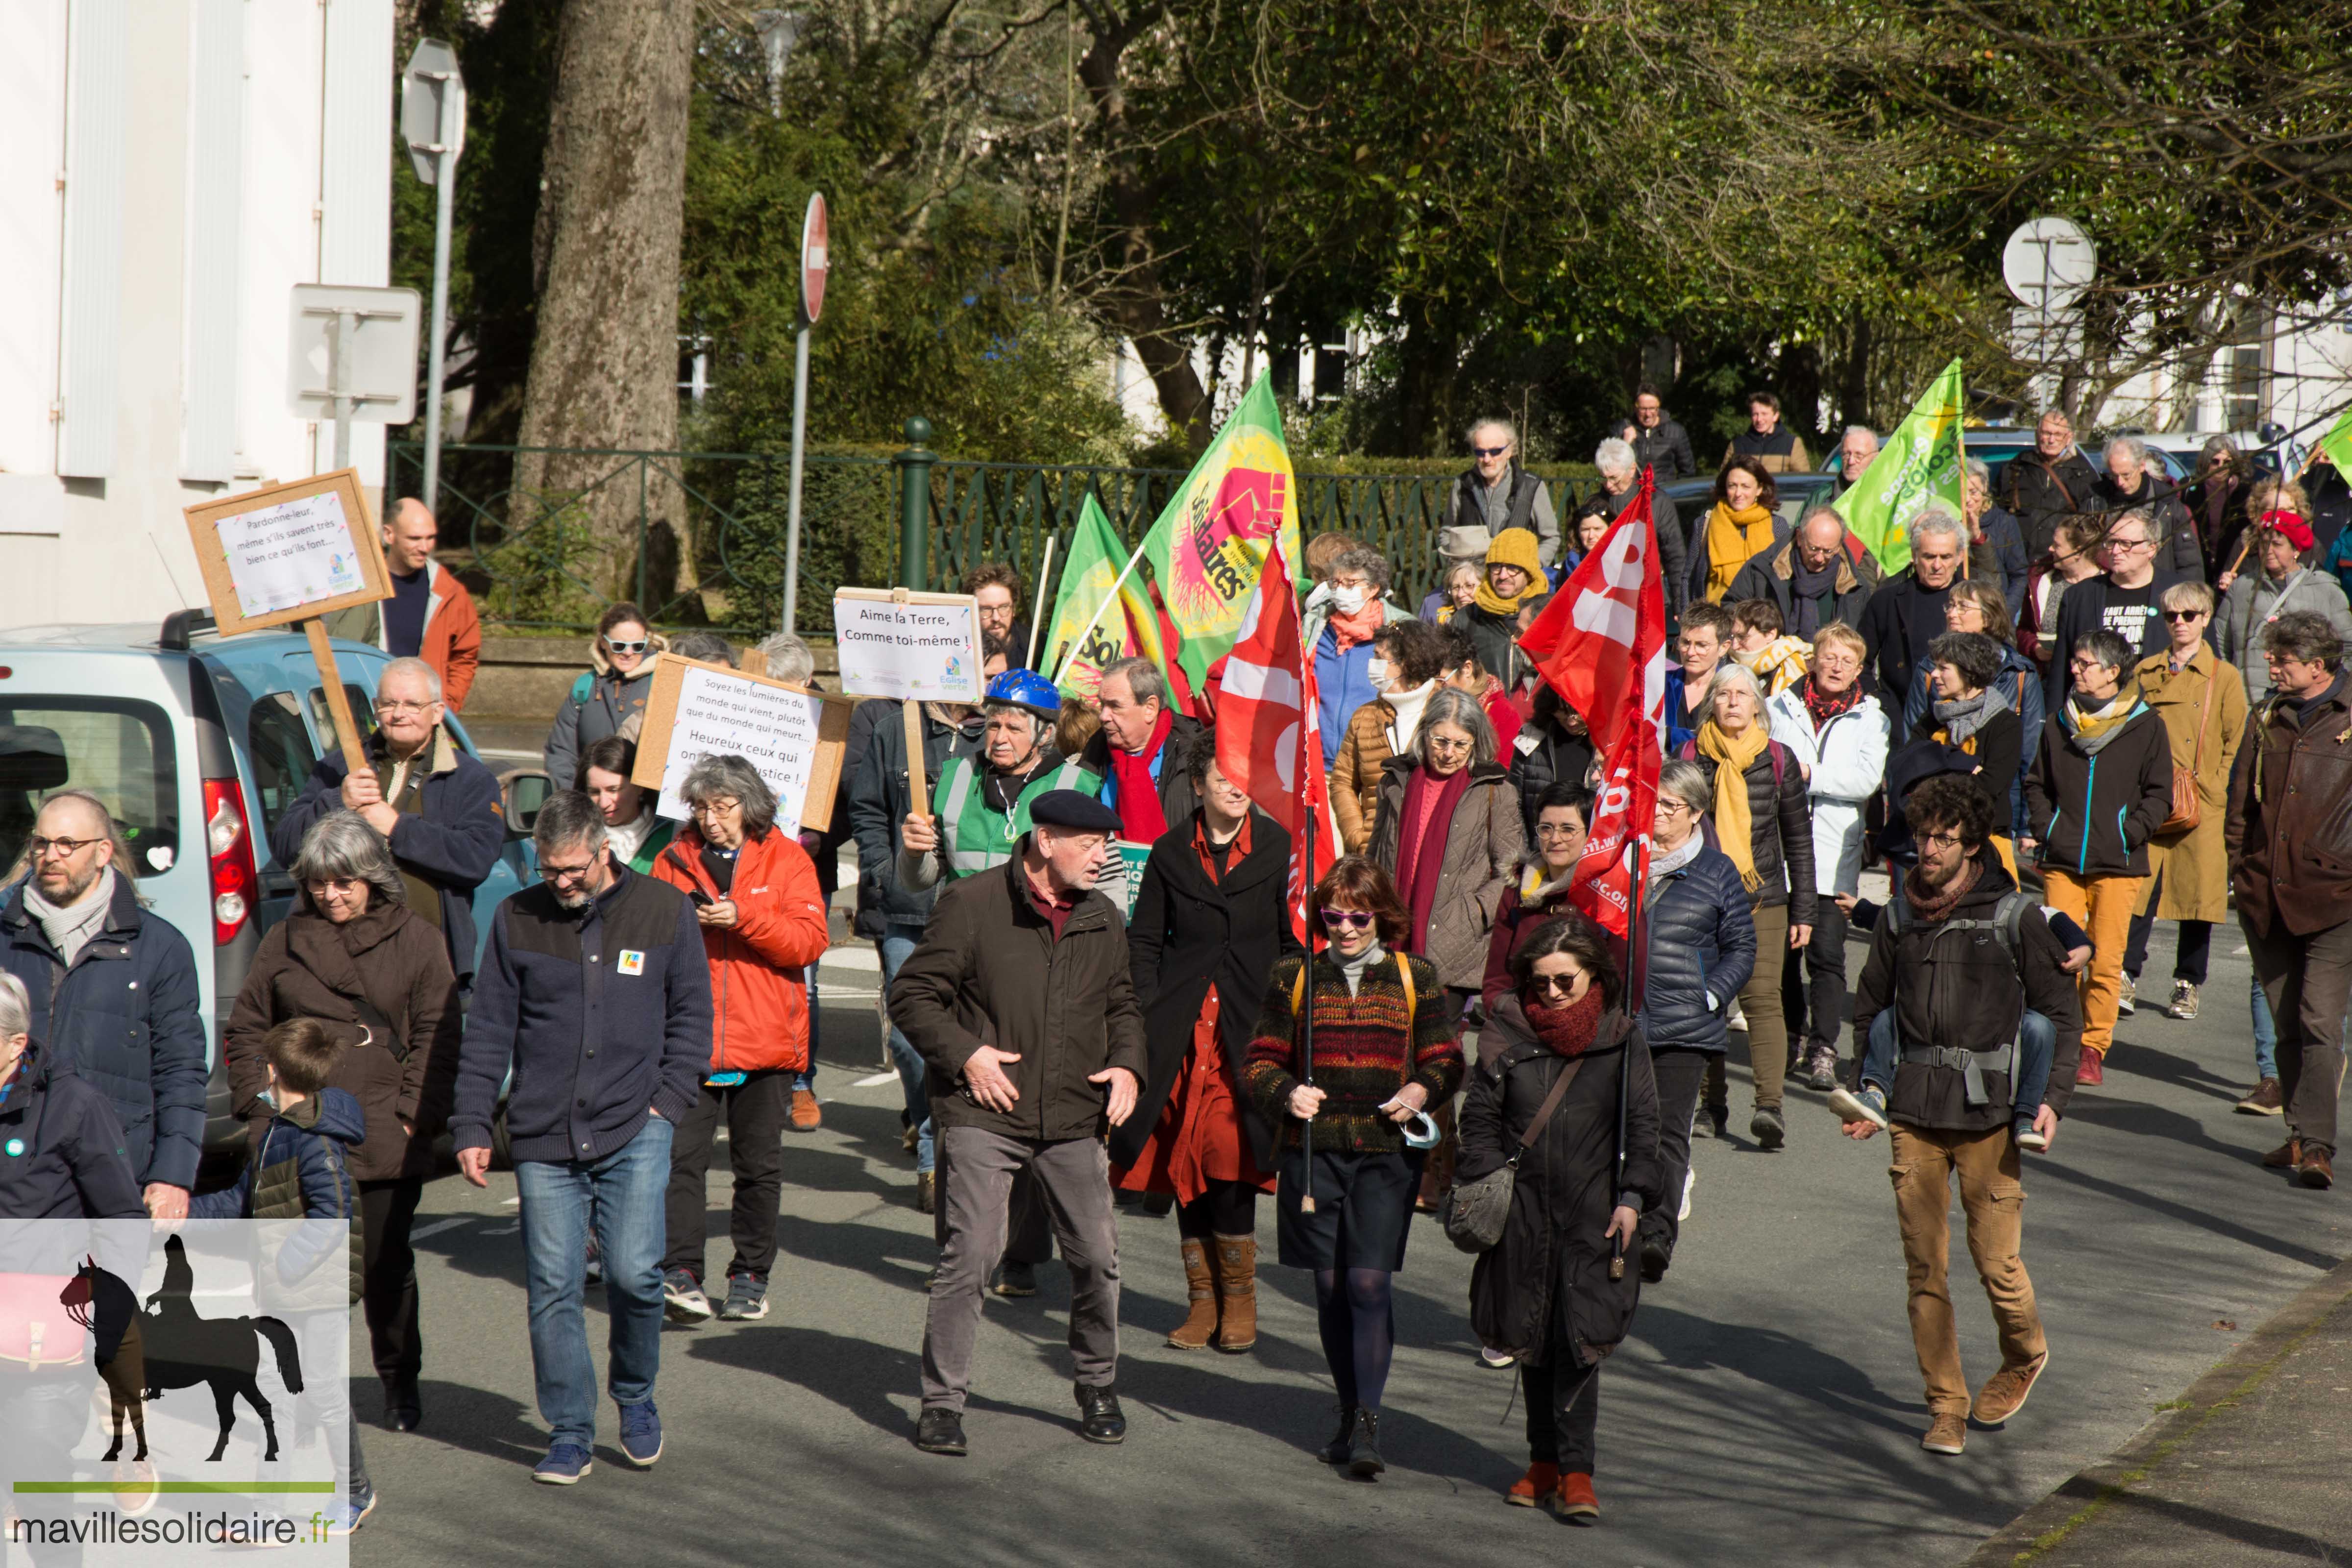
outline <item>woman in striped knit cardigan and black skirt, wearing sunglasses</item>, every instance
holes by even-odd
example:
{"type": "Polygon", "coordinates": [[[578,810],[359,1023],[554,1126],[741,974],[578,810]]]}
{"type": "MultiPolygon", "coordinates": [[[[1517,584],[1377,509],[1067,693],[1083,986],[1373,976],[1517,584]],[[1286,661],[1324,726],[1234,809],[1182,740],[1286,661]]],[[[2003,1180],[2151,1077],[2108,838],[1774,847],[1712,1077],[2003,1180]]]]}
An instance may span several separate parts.
{"type": "Polygon", "coordinates": [[[1392,950],[1406,936],[1406,914],[1388,872],[1362,856],[1343,858],[1315,886],[1315,914],[1329,947],[1315,957],[1312,997],[1305,999],[1310,987],[1301,978],[1305,959],[1279,959],[1244,1074],[1247,1093],[1282,1128],[1275,1201],[1282,1262],[1315,1269],[1315,1309],[1341,1415],[1322,1460],[1371,1479],[1385,1469],[1381,1389],[1397,1347],[1390,1274],[1404,1267],[1404,1232],[1421,1190],[1423,1154],[1406,1145],[1404,1124],[1454,1100],[1463,1053],[1454,1034],[1458,1009],[1449,1006],[1437,969],[1392,950]],[[1298,1041],[1301,999],[1315,1018],[1312,1063],[1298,1041]],[[1312,1194],[1312,1213],[1303,1194],[1312,1194]]]}

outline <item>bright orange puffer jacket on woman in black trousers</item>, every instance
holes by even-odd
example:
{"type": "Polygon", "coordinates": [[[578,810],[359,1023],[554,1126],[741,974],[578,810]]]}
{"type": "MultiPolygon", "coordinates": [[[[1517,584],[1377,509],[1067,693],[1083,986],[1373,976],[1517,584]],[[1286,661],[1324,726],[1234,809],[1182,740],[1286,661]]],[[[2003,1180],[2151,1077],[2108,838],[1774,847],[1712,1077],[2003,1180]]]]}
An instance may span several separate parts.
{"type": "Polygon", "coordinates": [[[654,877],[689,898],[731,900],[734,926],[703,926],[710,954],[710,1072],[809,1067],[809,966],[833,940],[809,851],[783,827],[746,837],[720,893],[703,867],[703,835],[684,827],[654,858],[654,877]]]}

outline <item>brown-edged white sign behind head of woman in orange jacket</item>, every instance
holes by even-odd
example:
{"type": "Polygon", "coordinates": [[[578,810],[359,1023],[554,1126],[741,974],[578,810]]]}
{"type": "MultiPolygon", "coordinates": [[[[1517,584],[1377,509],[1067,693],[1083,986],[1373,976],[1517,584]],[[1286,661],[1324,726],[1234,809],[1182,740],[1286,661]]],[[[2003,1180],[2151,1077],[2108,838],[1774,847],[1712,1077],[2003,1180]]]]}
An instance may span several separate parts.
{"type": "Polygon", "coordinates": [[[764,675],[663,654],[654,663],[630,780],[661,792],[659,816],[684,820],[677,785],[687,771],[703,757],[736,755],[776,792],[779,823],[823,830],[842,783],[849,708],[764,675]]]}

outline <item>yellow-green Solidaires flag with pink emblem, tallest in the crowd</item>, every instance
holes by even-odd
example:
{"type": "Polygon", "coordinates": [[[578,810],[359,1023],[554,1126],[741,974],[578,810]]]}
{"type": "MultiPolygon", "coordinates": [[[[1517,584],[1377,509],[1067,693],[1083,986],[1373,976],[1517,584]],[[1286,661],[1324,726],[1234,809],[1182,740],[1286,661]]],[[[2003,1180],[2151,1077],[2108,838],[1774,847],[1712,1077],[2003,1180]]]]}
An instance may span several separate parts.
{"type": "Polygon", "coordinates": [[[1242,635],[1275,538],[1282,559],[1305,559],[1282,411],[1272,381],[1258,376],[1143,536],[1143,559],[1176,628],[1171,651],[1195,689],[1242,635]]]}

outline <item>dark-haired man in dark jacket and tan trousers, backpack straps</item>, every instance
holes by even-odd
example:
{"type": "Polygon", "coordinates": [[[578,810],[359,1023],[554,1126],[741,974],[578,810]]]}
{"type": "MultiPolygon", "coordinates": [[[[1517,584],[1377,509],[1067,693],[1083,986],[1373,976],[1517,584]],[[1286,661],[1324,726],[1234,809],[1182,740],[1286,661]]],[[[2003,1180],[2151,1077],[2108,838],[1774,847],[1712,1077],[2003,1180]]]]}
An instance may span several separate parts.
{"type": "Polygon", "coordinates": [[[1912,1349],[1931,1418],[1919,1446],[1959,1453],[1971,1415],[1999,1427],[2049,1366],[2034,1286],[2018,1258],[2025,1201],[2018,1150],[2046,1150],[2058,1131],[2074,1088],[2082,1013],[2067,950],[1990,849],[1985,795],[1959,773],[1940,773],[1912,790],[1903,811],[1919,865],[1870,938],[1853,992],[1860,1095],[1844,1098],[1839,1110],[1849,1114],[1849,1138],[1889,1128],[1912,1349]],[[2030,1060],[2039,1053],[2018,1046],[2027,1011],[2051,1023],[2053,1041],[2042,1107],[2020,1133],[2013,1119],[2027,1110],[2039,1077],[2030,1060]],[[1889,1027],[1875,1027],[1882,1013],[1891,1016],[1889,1027]],[[2002,1368],[1973,1401],[1945,1284],[1955,1175],[1969,1255],[2002,1345],[2002,1368]]]}

